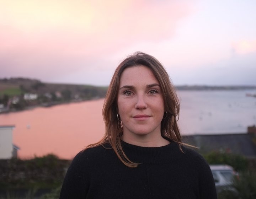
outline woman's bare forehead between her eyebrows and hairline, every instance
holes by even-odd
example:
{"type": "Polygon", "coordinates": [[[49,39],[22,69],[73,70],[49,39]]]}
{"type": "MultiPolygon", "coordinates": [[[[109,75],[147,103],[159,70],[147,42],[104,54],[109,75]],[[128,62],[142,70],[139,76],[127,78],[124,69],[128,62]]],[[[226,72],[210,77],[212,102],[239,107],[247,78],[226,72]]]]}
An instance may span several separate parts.
{"type": "Polygon", "coordinates": [[[145,83],[145,84],[159,84],[154,73],[146,66],[131,66],[126,69],[121,74],[120,77],[120,87],[123,85],[131,85],[135,83],[145,83]]]}

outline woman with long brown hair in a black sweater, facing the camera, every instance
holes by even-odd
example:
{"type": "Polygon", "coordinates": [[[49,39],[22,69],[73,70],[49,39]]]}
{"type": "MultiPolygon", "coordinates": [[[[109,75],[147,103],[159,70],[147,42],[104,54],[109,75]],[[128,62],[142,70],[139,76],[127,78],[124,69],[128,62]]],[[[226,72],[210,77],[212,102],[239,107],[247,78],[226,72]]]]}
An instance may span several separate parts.
{"type": "Polygon", "coordinates": [[[76,155],[60,198],[216,199],[206,161],[181,141],[179,109],[160,62],[127,57],[106,94],[105,135],[76,155]]]}

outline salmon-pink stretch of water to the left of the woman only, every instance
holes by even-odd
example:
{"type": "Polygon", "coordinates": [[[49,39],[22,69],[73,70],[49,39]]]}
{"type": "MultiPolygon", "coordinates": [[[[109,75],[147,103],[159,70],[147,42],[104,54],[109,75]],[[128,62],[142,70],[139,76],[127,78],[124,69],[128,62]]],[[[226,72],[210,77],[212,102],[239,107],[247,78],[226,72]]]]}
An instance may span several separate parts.
{"type": "Polygon", "coordinates": [[[0,125],[15,125],[13,143],[20,147],[20,158],[54,153],[70,159],[103,136],[102,106],[100,99],[1,114],[0,125]]]}

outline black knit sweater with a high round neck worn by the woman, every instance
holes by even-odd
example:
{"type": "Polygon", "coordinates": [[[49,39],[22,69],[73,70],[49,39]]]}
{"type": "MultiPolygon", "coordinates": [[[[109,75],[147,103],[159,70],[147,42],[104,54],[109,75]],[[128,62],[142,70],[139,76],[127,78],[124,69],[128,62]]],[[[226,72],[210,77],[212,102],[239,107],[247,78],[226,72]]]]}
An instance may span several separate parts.
{"type": "Polygon", "coordinates": [[[122,145],[138,167],[125,166],[112,149],[87,149],[72,161],[60,199],[217,199],[210,168],[197,152],[183,148],[183,153],[175,142],[122,145]]]}

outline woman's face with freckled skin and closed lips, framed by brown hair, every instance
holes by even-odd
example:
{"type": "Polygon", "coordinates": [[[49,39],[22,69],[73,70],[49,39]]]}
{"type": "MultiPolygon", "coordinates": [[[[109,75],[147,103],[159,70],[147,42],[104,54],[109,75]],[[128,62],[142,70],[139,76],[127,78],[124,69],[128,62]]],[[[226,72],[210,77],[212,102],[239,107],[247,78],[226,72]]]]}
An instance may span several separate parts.
{"type": "Polygon", "coordinates": [[[117,105],[124,141],[160,139],[164,100],[160,84],[149,68],[140,65],[123,71],[117,105]]]}

